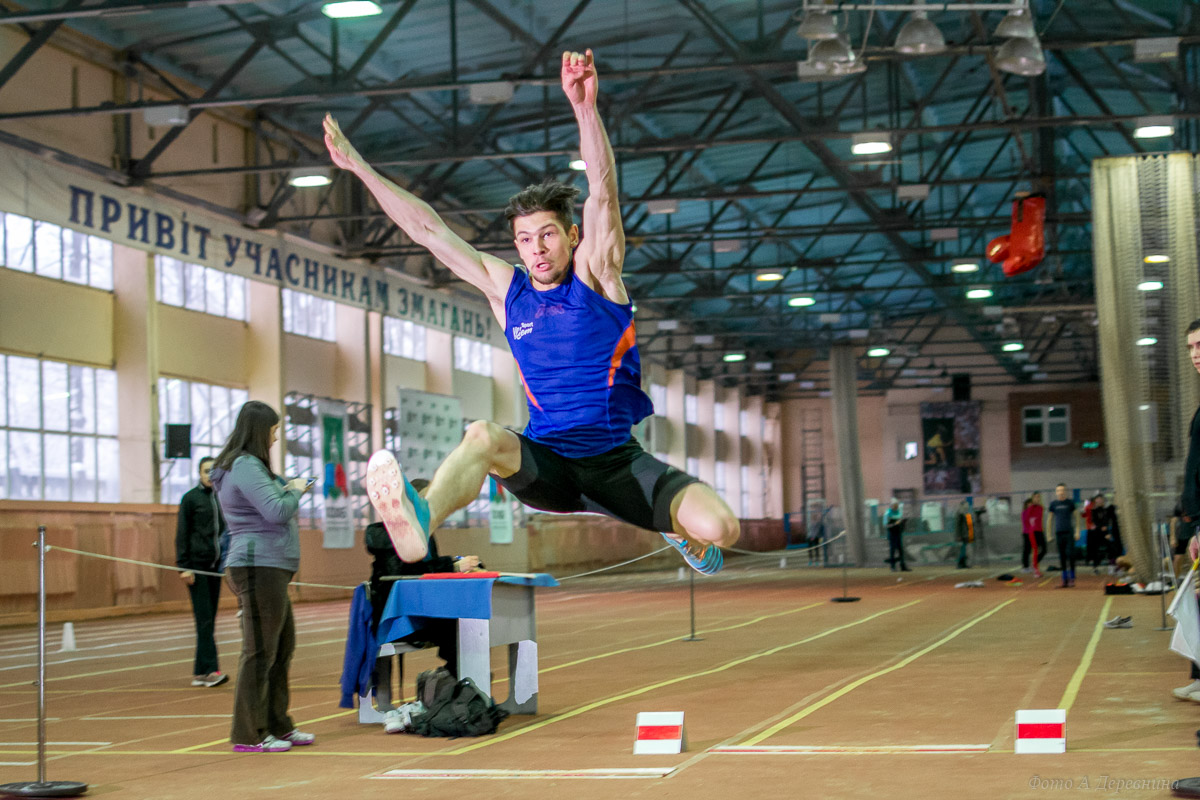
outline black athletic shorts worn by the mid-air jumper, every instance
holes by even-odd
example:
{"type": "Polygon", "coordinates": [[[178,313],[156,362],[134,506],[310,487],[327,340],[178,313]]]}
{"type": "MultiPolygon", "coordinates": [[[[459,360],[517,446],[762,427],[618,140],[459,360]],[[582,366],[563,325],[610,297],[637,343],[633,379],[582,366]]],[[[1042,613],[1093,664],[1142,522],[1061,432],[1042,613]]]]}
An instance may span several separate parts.
{"type": "Polygon", "coordinates": [[[590,511],[631,525],[670,533],[671,501],[700,479],[664,464],[637,439],[599,456],[568,458],[523,434],[521,469],[497,479],[527,506],[570,513],[590,511]]]}

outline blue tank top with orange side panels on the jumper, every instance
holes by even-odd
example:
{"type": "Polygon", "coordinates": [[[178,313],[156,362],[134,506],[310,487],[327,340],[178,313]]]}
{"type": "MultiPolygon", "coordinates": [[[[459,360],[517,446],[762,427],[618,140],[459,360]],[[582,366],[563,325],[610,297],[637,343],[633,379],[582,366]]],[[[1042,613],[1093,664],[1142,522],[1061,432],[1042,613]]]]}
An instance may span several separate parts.
{"type": "Polygon", "coordinates": [[[654,413],[642,391],[632,303],[605,299],[574,273],[539,291],[517,267],[504,314],[529,405],[529,439],[568,458],[596,456],[625,444],[654,413]]]}

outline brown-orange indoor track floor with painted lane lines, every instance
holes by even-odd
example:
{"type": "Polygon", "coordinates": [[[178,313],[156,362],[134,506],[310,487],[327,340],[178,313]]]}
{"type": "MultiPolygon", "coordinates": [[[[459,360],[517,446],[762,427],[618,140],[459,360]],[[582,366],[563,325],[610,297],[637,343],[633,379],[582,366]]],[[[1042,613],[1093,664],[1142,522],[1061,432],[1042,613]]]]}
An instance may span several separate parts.
{"type": "MultiPolygon", "coordinates": [[[[540,712],[479,739],[386,735],[337,708],[348,601],[296,607],[292,714],[317,744],[280,754],[230,752],[233,684],[188,685],[190,615],[77,622],[65,654],[54,626],[47,776],[122,800],[697,800],[1162,798],[1200,775],[1200,704],[1170,694],[1187,662],[1154,630],[1157,596],[1106,597],[1091,575],[1060,590],[1055,573],[1009,587],[988,579],[996,567],[924,567],[902,582],[852,570],[862,601],[833,603],[840,571],[791,560],[731,559],[697,579],[700,642],[682,640],[689,582],[674,571],[539,590],[540,712]],[[954,588],[971,578],[984,588],[954,588]],[[1117,614],[1134,627],[1104,628],[1117,614]],[[1014,754],[1015,711],[1057,706],[1068,752],[1014,754]],[[686,752],[632,754],[635,716],[650,710],[685,712],[686,752]]],[[[228,673],[239,639],[223,609],[228,673]]],[[[36,640],[34,627],[0,630],[0,783],[36,778],[36,640]]],[[[493,654],[499,696],[505,661],[493,654]]],[[[406,657],[408,694],[434,663],[406,657]]]]}

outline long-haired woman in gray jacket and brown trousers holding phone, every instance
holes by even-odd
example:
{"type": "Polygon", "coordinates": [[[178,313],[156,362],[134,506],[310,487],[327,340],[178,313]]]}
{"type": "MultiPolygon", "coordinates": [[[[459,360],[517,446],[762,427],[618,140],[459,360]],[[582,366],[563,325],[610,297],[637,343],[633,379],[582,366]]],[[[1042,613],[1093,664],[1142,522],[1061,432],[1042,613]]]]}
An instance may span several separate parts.
{"type": "Polygon", "coordinates": [[[275,409],[250,401],[212,469],[229,528],[226,575],[244,612],[229,736],[238,753],[280,753],[314,739],[296,730],[288,716],[288,668],[295,650],[288,583],[300,566],[296,511],[311,482],[284,482],[271,471],[278,432],[275,409]]]}

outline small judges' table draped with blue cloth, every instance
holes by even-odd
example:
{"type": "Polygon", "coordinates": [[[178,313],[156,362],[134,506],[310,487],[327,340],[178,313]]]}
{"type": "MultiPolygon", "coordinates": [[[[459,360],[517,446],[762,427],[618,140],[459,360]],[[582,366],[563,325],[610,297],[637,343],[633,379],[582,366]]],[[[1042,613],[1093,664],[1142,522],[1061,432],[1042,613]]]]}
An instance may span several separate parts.
{"type": "Polygon", "coordinates": [[[509,714],[538,712],[538,619],[535,587],[557,587],[541,573],[498,578],[396,581],[379,620],[378,642],[415,633],[430,618],[457,619],[458,676],[492,693],[491,649],[509,645],[509,714]]]}

